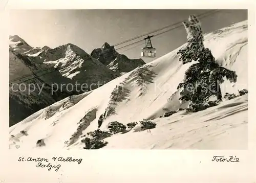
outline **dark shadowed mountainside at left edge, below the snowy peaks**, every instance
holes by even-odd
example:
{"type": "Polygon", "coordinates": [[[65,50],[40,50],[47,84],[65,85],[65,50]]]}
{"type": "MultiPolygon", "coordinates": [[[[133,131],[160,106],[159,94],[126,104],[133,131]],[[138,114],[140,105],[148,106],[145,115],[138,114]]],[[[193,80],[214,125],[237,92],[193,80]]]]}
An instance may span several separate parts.
{"type": "Polygon", "coordinates": [[[10,125],[17,123],[37,110],[47,107],[70,95],[65,88],[63,93],[56,90],[52,95],[51,83],[68,83],[72,81],[61,76],[59,72],[40,76],[47,72],[52,72],[53,70],[40,72],[44,68],[35,63],[31,57],[25,54],[9,51],[9,68],[9,79],[11,82],[9,85],[10,125]],[[24,75],[29,77],[20,78],[24,75]],[[29,93],[30,83],[36,84],[30,87],[31,90],[35,89],[31,93],[29,93]]]}

